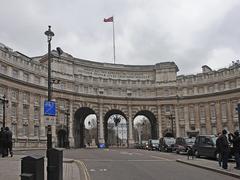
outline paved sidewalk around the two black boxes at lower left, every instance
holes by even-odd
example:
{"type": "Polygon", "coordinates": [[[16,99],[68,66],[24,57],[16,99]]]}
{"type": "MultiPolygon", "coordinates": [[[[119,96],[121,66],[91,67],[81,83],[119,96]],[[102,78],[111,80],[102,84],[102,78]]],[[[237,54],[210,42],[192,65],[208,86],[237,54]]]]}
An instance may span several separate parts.
{"type": "MultiPolygon", "coordinates": [[[[25,156],[15,155],[11,157],[0,157],[0,180],[20,180],[21,158],[25,156]]],[[[45,180],[47,161],[45,159],[45,180]]],[[[63,180],[80,180],[80,171],[77,163],[71,159],[63,159],[63,180]]]]}

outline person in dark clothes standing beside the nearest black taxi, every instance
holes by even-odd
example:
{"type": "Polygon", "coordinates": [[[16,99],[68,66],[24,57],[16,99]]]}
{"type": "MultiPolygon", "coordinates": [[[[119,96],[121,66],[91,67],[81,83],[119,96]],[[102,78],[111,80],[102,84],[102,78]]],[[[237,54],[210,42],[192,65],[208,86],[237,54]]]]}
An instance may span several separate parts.
{"type": "Polygon", "coordinates": [[[219,151],[222,158],[222,168],[228,168],[228,157],[229,157],[229,144],[227,138],[227,131],[222,130],[222,134],[218,138],[219,140],[219,151]]]}

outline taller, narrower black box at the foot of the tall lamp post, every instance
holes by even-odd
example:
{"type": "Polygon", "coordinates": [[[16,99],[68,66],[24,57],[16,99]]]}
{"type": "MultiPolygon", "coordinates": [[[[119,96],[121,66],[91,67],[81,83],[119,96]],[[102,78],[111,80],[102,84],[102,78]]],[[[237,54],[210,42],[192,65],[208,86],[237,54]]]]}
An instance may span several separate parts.
{"type": "Polygon", "coordinates": [[[63,180],[63,151],[52,148],[47,150],[47,156],[47,179],[63,180]]]}

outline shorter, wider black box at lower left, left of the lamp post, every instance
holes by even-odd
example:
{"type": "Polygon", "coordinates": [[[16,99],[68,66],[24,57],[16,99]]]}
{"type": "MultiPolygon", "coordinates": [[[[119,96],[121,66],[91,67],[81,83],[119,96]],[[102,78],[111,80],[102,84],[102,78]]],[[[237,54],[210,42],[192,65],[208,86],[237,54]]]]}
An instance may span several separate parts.
{"type": "Polygon", "coordinates": [[[21,180],[44,180],[44,156],[26,156],[21,161],[21,180]]]}

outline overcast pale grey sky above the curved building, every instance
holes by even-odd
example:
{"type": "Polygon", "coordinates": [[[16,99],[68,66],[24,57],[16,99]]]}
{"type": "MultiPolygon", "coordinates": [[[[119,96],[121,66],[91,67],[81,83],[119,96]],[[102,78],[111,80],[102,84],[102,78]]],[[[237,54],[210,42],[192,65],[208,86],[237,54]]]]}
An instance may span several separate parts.
{"type": "Polygon", "coordinates": [[[152,65],[174,61],[178,74],[228,67],[240,59],[240,0],[0,0],[0,42],[30,57],[52,47],[80,59],[152,65]]]}

